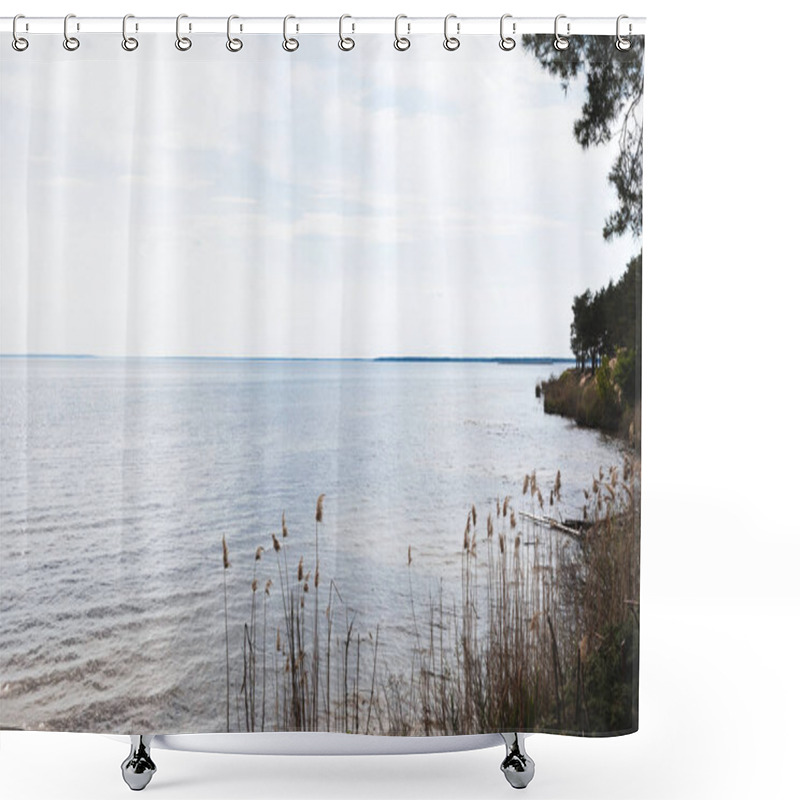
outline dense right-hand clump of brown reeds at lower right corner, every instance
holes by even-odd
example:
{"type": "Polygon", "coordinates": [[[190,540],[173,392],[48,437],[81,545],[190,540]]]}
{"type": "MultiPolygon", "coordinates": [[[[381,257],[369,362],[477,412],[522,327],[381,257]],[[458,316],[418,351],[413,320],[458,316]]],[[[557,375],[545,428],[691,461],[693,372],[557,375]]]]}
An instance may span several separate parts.
{"type": "MultiPolygon", "coordinates": [[[[523,482],[526,539],[510,498],[503,501],[502,514],[496,506],[495,518],[487,519],[483,547],[474,532],[469,541],[465,536],[461,605],[452,611],[441,600],[430,606],[430,644],[420,665],[421,694],[435,700],[420,709],[426,733],[635,727],[631,670],[616,681],[600,675],[597,666],[608,660],[605,649],[613,632],[634,623],[638,632],[632,465],[625,477],[616,469],[606,477],[599,473],[587,492],[587,520],[573,536],[543,516],[545,509],[552,514],[558,507],[560,473],[544,496],[535,473],[523,482]],[[449,644],[445,630],[452,632],[449,644]],[[590,683],[609,695],[594,697],[590,707],[589,668],[590,683]],[[608,685],[599,687],[595,679],[608,685]],[[627,719],[616,697],[625,691],[631,699],[627,719]]],[[[632,647],[629,642],[628,650],[632,647]]]]}

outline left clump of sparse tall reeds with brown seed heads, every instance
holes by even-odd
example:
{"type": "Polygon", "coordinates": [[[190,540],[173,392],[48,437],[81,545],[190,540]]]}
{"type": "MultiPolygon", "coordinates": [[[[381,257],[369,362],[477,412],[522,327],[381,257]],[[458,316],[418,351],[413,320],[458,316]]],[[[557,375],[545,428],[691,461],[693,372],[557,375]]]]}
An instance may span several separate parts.
{"type": "MultiPolygon", "coordinates": [[[[250,579],[250,613],[242,625],[241,684],[236,693],[237,721],[240,730],[355,730],[374,732],[377,712],[375,687],[378,669],[378,633],[363,634],[356,629],[356,614],[342,599],[334,580],[328,582],[325,609],[327,635],[320,635],[319,590],[321,566],[319,534],[323,523],[323,498],[315,513],[315,564],[307,568],[301,554],[293,567],[291,537],[285,514],[281,534],[271,534],[269,551],[259,545],[255,551],[250,579]],[[264,554],[271,553],[269,558],[264,554]],[[264,574],[262,574],[264,573],[264,574]],[[274,577],[273,577],[274,576],[274,577]],[[263,583],[262,583],[263,582],[263,583]],[[259,592],[263,585],[264,591],[259,592]],[[313,585],[314,607],[307,607],[313,585]],[[269,604],[275,586],[280,596],[275,629],[269,632],[269,604]],[[260,617],[258,604],[261,603],[260,617]],[[341,617],[342,623],[339,622],[341,617]],[[261,634],[257,634],[257,618],[261,634]],[[272,643],[274,642],[274,648],[272,643]],[[372,674],[362,681],[362,655],[372,649],[372,674]],[[355,671],[354,671],[355,670],[355,671]],[[369,690],[367,693],[367,689],[369,690]],[[267,708],[271,709],[270,715],[267,708]],[[366,709],[366,718],[362,708],[366,709]],[[241,710],[241,714],[238,713],[241,710]],[[259,713],[260,710],[260,713],[259,713]],[[363,720],[363,722],[362,722],[363,720]]],[[[225,545],[225,569],[230,566],[225,545]]],[[[229,663],[227,578],[225,592],[226,665],[229,663]]],[[[228,698],[230,670],[226,669],[228,698]]],[[[228,706],[230,701],[227,701],[228,706]]],[[[227,715],[230,730],[230,714],[227,715]]]]}

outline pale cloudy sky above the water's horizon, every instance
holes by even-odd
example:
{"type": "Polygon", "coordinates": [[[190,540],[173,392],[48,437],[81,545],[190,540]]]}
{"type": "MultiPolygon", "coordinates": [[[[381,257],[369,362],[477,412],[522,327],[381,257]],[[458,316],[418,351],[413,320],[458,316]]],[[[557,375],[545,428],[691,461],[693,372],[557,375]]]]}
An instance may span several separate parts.
{"type": "Polygon", "coordinates": [[[0,352],[569,356],[639,249],[580,83],[496,36],[224,42],[2,48],[0,352]]]}

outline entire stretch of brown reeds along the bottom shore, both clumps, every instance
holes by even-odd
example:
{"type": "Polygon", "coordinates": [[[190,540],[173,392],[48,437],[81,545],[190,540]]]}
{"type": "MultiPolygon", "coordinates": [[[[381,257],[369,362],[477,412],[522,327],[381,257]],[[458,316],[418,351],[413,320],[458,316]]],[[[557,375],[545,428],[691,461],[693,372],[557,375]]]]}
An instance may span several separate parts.
{"type": "MultiPolygon", "coordinates": [[[[385,628],[358,626],[348,588],[324,575],[324,497],[314,551],[294,552],[283,515],[255,553],[223,537],[228,730],[460,735],[501,730],[614,735],[638,727],[639,477],[600,469],[582,518],[564,519],[561,473],[466,509],[460,585],[414,597],[410,669],[382,658],[385,628]],[[240,560],[241,559],[241,560],[240,560]],[[228,571],[236,571],[235,579],[228,571]],[[228,593],[247,585],[244,620],[228,593]],[[236,587],[236,589],[234,589],[236,587]]],[[[446,545],[445,545],[446,546],[446,545]]]]}

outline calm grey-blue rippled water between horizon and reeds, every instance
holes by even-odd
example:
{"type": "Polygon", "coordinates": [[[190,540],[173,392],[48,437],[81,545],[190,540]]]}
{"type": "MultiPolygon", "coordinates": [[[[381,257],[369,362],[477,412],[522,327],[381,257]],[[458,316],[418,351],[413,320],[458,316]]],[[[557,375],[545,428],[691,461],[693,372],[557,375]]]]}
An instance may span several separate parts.
{"type": "MultiPolygon", "coordinates": [[[[222,536],[240,647],[256,547],[285,512],[313,569],[322,492],[321,585],[401,667],[409,587],[460,591],[472,503],[560,469],[580,515],[621,462],[544,415],[563,366],[0,359],[0,726],[224,730],[222,536]]],[[[259,568],[277,582],[271,549],[259,568]]]]}

